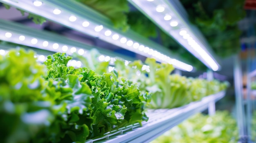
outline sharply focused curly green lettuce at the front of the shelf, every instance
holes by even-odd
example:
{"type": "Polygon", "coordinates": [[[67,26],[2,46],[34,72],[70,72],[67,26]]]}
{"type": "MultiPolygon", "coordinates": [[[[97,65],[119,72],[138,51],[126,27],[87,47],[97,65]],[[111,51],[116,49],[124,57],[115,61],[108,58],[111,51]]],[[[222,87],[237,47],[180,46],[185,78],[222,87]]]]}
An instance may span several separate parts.
{"type": "Polygon", "coordinates": [[[146,95],[140,93],[137,84],[127,79],[118,81],[114,78],[117,75],[112,73],[97,75],[88,68],[67,67],[70,59],[63,53],[48,56],[45,62],[48,68],[46,79],[60,77],[66,80],[68,76],[76,75],[81,84],[88,85],[93,95],[90,104],[92,111],[84,117],[88,120],[89,139],[102,136],[112,129],[147,120],[143,111],[146,95]]]}

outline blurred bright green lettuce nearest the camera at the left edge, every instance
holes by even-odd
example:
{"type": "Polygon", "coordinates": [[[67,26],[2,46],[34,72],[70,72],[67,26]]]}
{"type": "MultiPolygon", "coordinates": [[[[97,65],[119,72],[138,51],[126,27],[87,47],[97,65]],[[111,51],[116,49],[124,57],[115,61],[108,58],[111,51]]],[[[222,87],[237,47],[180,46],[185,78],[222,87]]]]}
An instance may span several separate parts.
{"type": "Polygon", "coordinates": [[[27,143],[54,120],[53,100],[45,92],[44,66],[34,52],[21,49],[0,56],[0,137],[27,143]]]}

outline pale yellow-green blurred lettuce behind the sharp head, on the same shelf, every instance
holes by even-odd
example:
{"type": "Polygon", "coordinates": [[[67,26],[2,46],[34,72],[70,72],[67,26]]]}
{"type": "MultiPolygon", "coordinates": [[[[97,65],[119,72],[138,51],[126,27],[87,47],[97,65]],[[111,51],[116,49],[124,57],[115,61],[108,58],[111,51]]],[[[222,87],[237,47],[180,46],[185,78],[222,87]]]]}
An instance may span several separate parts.
{"type": "Polygon", "coordinates": [[[129,62],[118,58],[115,61],[101,62],[98,59],[100,54],[97,50],[91,50],[89,55],[74,56],[85,67],[95,69],[98,74],[115,73],[113,75],[117,75],[119,79],[124,77],[137,83],[141,92],[150,94],[148,96],[150,103],[146,105],[147,108],[180,107],[191,101],[199,101],[203,97],[216,94],[229,86],[228,82],[220,82],[216,79],[207,81],[171,74],[174,70],[171,64],[158,63],[153,58],[147,58],[145,63],[141,60],[129,62]]]}

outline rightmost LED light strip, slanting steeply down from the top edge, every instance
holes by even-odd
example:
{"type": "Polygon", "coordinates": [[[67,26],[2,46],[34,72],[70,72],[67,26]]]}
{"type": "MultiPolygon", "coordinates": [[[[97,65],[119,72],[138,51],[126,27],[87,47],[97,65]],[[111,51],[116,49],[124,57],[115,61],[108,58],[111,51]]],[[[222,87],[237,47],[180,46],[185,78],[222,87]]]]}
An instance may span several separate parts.
{"type": "MultiPolygon", "coordinates": [[[[189,22],[182,18],[173,0],[128,0],[142,13],[148,16],[166,33],[174,37],[190,53],[195,55],[206,66],[218,70],[220,66],[207,50],[207,43],[200,37],[199,31],[193,29],[189,22]],[[174,6],[175,5],[175,6],[174,6]]],[[[177,1],[176,1],[177,2],[177,1]]],[[[179,9],[180,10],[180,9],[179,9]]]]}

